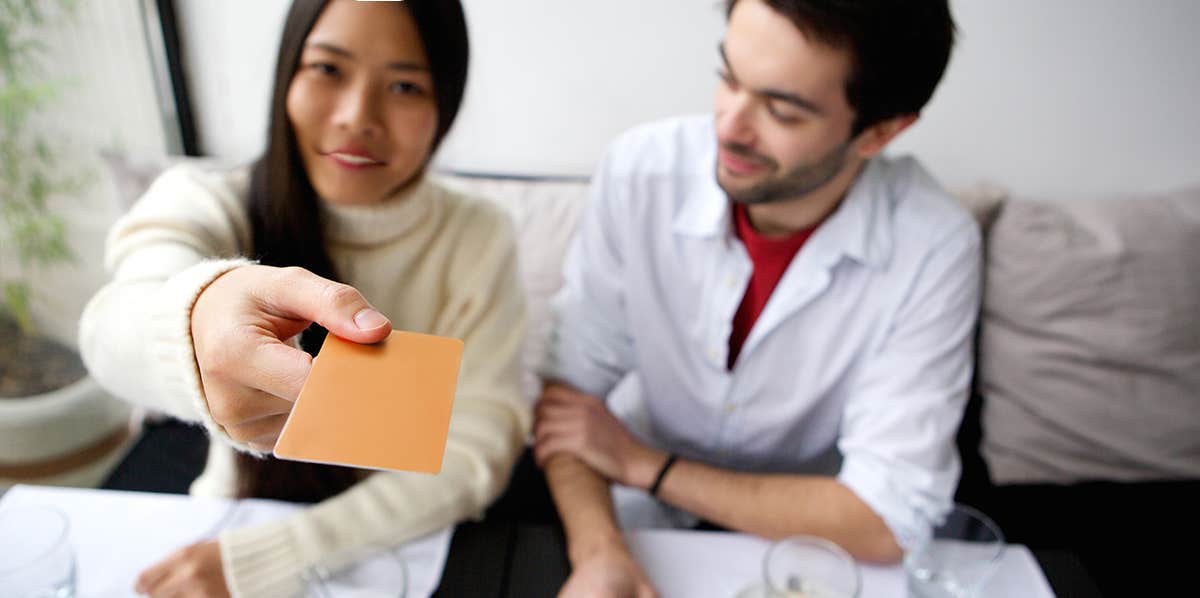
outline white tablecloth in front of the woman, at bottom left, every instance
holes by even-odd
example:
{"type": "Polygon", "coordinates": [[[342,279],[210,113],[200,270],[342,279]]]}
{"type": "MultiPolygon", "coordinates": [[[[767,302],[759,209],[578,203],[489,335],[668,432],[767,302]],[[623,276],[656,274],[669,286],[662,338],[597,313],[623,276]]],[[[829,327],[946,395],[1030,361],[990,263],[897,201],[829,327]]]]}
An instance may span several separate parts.
{"type": "MultiPolygon", "coordinates": [[[[53,506],[71,520],[78,598],[133,597],[133,584],[146,567],[173,550],[206,539],[220,530],[269,521],[300,508],[275,501],[194,498],[181,495],[14,486],[0,497],[0,510],[18,506],[53,506]]],[[[437,588],[450,550],[451,528],[406,544],[398,550],[409,574],[410,597],[437,588]]],[[[374,557],[347,572],[344,579],[370,578],[395,560],[374,557]]],[[[341,596],[342,592],[335,592],[341,596]]]]}

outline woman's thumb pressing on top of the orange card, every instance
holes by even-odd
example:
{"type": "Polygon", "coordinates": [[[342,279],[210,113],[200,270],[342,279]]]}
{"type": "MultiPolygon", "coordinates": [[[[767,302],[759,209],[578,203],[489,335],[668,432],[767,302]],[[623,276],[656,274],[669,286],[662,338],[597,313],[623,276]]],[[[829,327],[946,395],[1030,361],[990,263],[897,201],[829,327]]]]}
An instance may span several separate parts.
{"type": "Polygon", "coordinates": [[[372,343],[391,334],[391,322],[362,293],[317,276],[304,268],[283,268],[274,285],[260,287],[269,310],[294,319],[316,322],[342,339],[372,343]]]}

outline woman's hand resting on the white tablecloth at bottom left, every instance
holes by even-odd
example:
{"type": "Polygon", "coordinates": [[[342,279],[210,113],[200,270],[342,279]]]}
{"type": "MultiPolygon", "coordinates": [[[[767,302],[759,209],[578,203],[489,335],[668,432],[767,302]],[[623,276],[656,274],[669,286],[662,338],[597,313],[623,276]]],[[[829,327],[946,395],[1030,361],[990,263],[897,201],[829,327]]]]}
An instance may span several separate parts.
{"type": "Polygon", "coordinates": [[[217,540],[184,546],[138,575],[134,591],[151,598],[229,598],[217,540]]]}

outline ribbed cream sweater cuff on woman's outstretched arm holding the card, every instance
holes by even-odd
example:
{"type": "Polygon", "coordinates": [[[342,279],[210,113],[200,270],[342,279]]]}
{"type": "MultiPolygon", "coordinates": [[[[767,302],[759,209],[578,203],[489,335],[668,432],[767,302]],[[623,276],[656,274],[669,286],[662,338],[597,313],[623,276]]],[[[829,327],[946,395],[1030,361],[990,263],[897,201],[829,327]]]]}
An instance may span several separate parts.
{"type": "Polygon", "coordinates": [[[163,395],[178,397],[176,405],[180,408],[186,407],[179,403],[190,403],[192,407],[190,411],[198,415],[214,438],[220,438],[238,450],[260,455],[260,452],[248,444],[230,438],[212,419],[209,402],[204,397],[204,385],[200,383],[200,370],[196,364],[196,348],[192,345],[192,307],[197,298],[222,274],[250,264],[253,262],[248,259],[210,259],[168,279],[160,291],[157,310],[150,315],[150,342],[154,343],[152,354],[157,361],[155,365],[163,372],[161,377],[163,395]]]}

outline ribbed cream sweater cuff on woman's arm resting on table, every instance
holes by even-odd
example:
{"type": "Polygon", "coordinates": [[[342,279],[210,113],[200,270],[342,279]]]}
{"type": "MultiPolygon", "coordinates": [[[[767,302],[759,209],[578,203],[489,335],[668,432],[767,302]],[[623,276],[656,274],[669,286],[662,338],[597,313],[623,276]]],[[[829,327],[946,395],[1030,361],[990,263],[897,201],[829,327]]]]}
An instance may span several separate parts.
{"type": "Polygon", "coordinates": [[[293,597],[304,590],[304,564],[287,520],[227,530],[220,545],[233,598],[293,597]]]}

